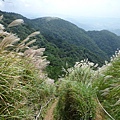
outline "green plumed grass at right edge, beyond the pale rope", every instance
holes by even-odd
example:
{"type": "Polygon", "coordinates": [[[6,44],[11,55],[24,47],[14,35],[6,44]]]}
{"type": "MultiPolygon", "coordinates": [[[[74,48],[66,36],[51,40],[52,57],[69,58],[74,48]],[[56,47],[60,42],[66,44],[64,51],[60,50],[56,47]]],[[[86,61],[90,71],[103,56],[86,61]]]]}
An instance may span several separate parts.
{"type": "Polygon", "coordinates": [[[97,97],[104,108],[106,119],[120,119],[120,50],[99,70],[94,81],[97,97]]]}

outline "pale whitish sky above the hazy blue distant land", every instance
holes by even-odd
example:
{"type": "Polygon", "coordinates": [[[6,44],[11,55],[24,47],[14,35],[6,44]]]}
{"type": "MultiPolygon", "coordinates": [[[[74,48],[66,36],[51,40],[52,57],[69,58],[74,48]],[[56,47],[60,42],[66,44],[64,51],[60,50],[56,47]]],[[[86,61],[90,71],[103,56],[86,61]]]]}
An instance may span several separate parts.
{"type": "Polygon", "coordinates": [[[120,18],[120,0],[0,0],[0,10],[28,18],[114,17],[120,18]]]}

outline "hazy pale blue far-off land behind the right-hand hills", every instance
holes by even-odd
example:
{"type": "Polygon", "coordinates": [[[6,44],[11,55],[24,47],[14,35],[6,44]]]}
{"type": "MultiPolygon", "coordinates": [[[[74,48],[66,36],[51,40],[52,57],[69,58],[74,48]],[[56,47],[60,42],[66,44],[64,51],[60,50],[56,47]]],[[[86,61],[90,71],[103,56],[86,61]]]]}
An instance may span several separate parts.
{"type": "Polygon", "coordinates": [[[120,18],[80,17],[66,19],[69,19],[72,23],[86,31],[109,30],[120,36],[120,18]]]}

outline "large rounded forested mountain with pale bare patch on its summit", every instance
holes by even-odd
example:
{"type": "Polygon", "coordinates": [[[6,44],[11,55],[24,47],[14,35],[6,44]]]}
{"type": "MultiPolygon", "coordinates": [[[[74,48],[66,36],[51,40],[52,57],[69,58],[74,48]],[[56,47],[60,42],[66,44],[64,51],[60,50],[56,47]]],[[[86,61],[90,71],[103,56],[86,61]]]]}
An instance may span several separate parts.
{"type": "Polygon", "coordinates": [[[86,34],[85,30],[60,18],[44,17],[34,19],[34,28],[39,29],[43,36],[58,47],[61,42],[67,42],[78,47],[83,47],[98,57],[105,57],[105,53],[99,49],[97,44],[86,34]]]}

